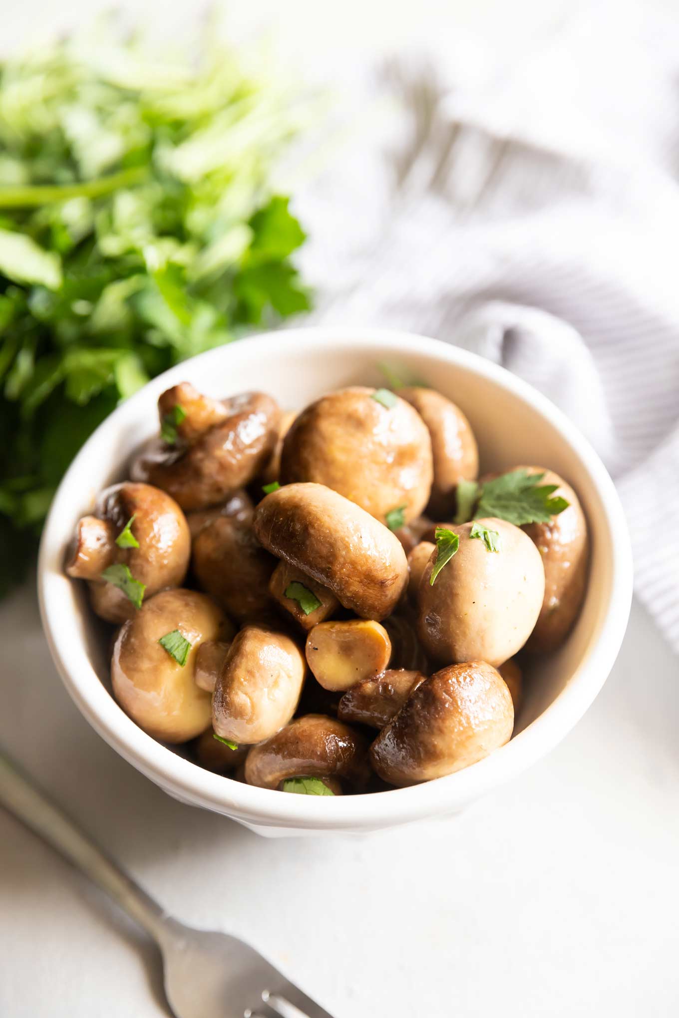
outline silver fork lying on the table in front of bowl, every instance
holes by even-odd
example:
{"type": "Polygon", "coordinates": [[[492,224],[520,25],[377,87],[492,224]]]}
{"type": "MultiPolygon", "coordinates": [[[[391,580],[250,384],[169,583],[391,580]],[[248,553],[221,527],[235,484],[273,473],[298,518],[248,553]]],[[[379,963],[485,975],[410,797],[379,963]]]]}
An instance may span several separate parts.
{"type": "Polygon", "coordinates": [[[259,952],[168,915],[0,753],[0,805],[86,873],[158,944],[175,1018],[332,1018],[259,952]]]}

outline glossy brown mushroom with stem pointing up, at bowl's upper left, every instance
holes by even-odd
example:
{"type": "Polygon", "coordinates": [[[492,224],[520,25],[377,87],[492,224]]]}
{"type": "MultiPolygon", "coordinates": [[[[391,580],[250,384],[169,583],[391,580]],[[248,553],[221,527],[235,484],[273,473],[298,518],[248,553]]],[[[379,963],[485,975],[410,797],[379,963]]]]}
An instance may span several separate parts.
{"type": "Polygon", "coordinates": [[[280,410],[261,392],[213,400],[182,382],[162,394],[158,407],[165,438],[139,453],[132,477],[169,492],[187,511],[217,505],[249,484],[276,445],[280,410]]]}

